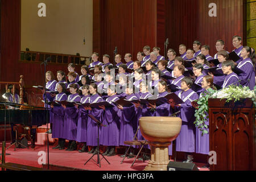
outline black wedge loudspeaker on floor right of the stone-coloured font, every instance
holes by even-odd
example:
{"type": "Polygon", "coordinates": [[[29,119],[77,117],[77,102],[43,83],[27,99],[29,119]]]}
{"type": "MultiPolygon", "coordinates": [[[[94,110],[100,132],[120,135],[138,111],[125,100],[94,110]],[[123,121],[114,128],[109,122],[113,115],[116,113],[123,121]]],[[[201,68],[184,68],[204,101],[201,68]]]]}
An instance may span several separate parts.
{"type": "Polygon", "coordinates": [[[167,171],[199,171],[194,163],[169,162],[167,171]]]}

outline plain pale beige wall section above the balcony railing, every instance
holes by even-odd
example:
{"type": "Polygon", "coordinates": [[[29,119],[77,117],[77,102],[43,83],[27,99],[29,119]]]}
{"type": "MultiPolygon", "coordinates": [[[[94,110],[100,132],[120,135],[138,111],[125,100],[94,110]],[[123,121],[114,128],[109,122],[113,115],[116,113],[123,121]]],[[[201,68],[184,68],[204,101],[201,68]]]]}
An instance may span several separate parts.
{"type": "Polygon", "coordinates": [[[28,47],[39,52],[92,54],[93,0],[22,0],[21,17],[21,51],[28,47]],[[46,4],[46,17],[38,16],[39,3],[46,4]]]}

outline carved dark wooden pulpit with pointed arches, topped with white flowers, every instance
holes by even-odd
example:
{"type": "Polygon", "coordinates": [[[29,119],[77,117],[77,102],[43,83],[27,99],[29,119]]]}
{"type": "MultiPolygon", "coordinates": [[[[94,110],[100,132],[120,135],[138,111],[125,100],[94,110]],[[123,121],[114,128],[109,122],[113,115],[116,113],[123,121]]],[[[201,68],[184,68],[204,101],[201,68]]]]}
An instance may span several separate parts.
{"type": "Polygon", "coordinates": [[[210,151],[216,151],[216,164],[210,171],[256,170],[256,123],[251,99],[226,103],[210,98],[210,151]]]}

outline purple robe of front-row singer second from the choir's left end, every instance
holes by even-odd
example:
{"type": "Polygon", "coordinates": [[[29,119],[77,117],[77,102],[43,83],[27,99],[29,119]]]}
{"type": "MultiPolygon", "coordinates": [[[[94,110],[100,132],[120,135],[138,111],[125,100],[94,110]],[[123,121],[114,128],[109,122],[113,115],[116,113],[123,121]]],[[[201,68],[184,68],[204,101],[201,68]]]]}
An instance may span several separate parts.
{"type": "MultiPolygon", "coordinates": [[[[55,101],[66,101],[68,96],[63,92],[55,96],[55,101]]],[[[62,106],[53,106],[51,108],[53,113],[52,117],[52,138],[65,139],[64,133],[64,121],[65,121],[65,109],[62,106]]]]}

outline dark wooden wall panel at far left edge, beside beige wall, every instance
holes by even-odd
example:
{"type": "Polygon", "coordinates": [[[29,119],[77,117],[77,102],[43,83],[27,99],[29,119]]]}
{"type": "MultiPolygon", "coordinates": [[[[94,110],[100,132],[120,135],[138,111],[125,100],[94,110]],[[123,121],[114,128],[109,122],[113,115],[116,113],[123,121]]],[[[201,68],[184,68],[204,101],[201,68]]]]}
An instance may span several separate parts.
{"type": "Polygon", "coordinates": [[[1,1],[0,81],[19,81],[20,1],[1,1]]]}

